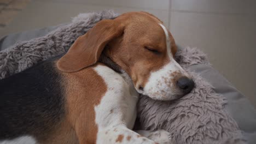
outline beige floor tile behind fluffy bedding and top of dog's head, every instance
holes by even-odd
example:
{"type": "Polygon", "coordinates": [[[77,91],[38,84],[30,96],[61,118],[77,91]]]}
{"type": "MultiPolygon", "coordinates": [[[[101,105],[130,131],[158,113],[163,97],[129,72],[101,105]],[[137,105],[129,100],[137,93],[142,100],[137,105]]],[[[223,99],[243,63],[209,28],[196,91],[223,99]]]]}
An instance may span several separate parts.
{"type": "Polygon", "coordinates": [[[13,20],[3,31],[2,35],[27,31],[31,29],[59,25],[60,23],[70,22],[71,18],[79,13],[89,13],[92,11],[101,11],[104,9],[113,9],[116,13],[125,13],[127,11],[145,10],[153,13],[162,19],[166,25],[168,23],[168,10],[154,10],[143,8],[119,8],[107,7],[106,5],[88,5],[59,3],[49,1],[32,1],[22,10],[16,19],[13,20]]]}

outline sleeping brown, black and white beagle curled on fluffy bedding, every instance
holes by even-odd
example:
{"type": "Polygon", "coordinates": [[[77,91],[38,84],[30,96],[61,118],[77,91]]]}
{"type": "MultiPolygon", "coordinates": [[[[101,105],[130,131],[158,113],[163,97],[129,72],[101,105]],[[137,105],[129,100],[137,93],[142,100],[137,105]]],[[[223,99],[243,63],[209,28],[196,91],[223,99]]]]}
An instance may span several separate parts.
{"type": "Polygon", "coordinates": [[[98,22],[65,55],[0,81],[0,143],[169,143],[165,130],[131,129],[139,94],[174,100],[193,89],[176,51],[149,13],[98,22]]]}

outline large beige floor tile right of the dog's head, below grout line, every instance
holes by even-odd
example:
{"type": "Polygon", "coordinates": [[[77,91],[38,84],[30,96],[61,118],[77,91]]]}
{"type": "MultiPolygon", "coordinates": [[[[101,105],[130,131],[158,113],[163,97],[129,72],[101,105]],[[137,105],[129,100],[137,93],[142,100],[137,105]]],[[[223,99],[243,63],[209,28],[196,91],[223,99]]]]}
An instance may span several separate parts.
{"type": "Polygon", "coordinates": [[[177,44],[205,51],[213,67],[256,106],[256,17],[172,12],[170,31],[177,44]]]}

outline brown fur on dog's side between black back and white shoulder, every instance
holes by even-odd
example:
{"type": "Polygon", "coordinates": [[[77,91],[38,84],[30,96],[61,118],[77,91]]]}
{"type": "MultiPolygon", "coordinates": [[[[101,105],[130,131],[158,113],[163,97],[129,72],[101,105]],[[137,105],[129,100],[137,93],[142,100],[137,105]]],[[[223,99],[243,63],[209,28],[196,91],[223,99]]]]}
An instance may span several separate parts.
{"type": "Polygon", "coordinates": [[[66,83],[67,121],[79,143],[96,143],[94,107],[107,91],[106,83],[92,68],[62,73],[66,83]]]}

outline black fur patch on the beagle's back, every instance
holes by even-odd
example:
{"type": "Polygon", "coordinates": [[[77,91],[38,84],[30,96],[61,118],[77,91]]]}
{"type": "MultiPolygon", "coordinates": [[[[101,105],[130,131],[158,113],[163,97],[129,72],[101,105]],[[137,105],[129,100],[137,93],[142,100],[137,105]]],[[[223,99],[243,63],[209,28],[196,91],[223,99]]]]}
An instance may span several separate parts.
{"type": "Polygon", "coordinates": [[[65,115],[54,59],[0,80],[0,140],[48,133],[65,115]]]}

